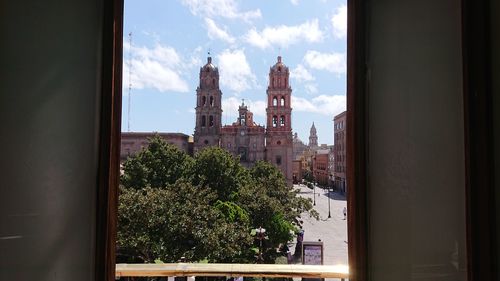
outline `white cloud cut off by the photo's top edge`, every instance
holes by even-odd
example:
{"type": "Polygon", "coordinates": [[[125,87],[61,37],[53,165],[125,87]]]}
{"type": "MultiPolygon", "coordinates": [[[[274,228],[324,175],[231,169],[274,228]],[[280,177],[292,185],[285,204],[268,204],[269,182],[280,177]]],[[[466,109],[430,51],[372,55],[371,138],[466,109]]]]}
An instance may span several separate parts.
{"type": "Polygon", "coordinates": [[[189,7],[193,15],[206,17],[224,17],[229,19],[242,19],[250,21],[260,18],[259,9],[241,12],[235,0],[182,0],[182,4],[189,7]]]}

